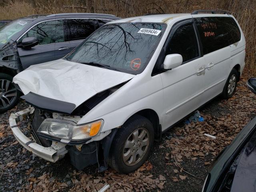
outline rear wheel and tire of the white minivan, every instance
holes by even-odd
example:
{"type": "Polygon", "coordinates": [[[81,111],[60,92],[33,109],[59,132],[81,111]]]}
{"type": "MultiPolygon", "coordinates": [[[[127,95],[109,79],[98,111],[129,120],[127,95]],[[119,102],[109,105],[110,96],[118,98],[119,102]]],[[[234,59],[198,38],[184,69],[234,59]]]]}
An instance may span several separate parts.
{"type": "Polygon", "coordinates": [[[234,95],[236,91],[237,82],[238,82],[238,72],[236,69],[233,68],[228,76],[228,79],[222,91],[222,97],[224,99],[229,99],[234,95]]]}

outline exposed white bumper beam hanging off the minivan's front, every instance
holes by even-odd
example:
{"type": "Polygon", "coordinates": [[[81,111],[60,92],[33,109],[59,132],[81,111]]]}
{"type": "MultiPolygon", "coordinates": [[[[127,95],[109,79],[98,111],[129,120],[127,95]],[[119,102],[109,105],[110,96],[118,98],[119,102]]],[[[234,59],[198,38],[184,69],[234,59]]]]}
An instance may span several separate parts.
{"type": "Polygon", "coordinates": [[[25,120],[26,118],[28,118],[28,115],[33,113],[34,108],[31,106],[15,114],[12,113],[9,118],[12,133],[14,134],[18,142],[20,142],[20,144],[28,151],[50,162],[56,162],[59,159],[63,158],[68,152],[68,150],[66,150],[65,148],[66,144],[53,141],[52,146],[44,147],[30,140],[18,128],[17,122],[25,120]]]}

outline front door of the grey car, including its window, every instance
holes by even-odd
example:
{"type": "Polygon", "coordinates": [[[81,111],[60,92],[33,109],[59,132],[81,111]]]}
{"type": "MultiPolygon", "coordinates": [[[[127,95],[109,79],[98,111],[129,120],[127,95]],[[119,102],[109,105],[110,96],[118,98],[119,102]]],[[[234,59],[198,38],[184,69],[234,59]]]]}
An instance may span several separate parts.
{"type": "MultiPolygon", "coordinates": [[[[30,65],[54,60],[55,44],[60,42],[64,42],[64,33],[62,22],[58,20],[40,22],[31,28],[17,42],[23,69],[30,65]],[[36,37],[39,41],[38,45],[27,49],[22,48],[22,40],[26,37],[36,37]]],[[[69,44],[68,49],[70,50],[69,44]]]]}

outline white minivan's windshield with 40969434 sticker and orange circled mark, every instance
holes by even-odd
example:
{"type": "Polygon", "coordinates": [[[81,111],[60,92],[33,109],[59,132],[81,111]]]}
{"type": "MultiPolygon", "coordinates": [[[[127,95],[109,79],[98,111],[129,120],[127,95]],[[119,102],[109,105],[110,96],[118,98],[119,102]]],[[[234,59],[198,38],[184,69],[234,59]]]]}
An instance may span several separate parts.
{"type": "Polygon", "coordinates": [[[139,74],[146,68],[165,29],[166,24],[159,23],[108,24],[89,36],[66,59],[139,74]]]}

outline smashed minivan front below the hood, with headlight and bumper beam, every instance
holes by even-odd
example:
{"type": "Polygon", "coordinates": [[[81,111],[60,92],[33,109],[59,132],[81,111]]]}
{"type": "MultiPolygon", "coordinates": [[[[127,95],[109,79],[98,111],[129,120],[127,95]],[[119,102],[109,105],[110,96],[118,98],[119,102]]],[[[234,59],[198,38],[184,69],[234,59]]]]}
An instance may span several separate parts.
{"type": "MultiPolygon", "coordinates": [[[[104,171],[107,169],[106,158],[116,130],[100,133],[99,128],[98,132],[90,131],[88,124],[82,125],[82,130],[78,130],[79,126],[76,123],[80,119],[80,116],[48,112],[30,106],[15,114],[12,113],[9,121],[15,138],[36,156],[56,162],[69,153],[71,164],[78,170],[98,163],[99,170],[104,171]],[[26,137],[17,126],[18,122],[25,119],[28,119],[32,140],[26,137]],[[75,126],[76,130],[71,126],[75,126]]],[[[90,124],[94,126],[100,124],[101,127],[103,120],[90,124]]]]}

